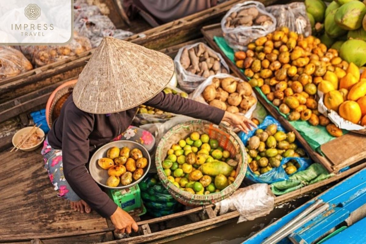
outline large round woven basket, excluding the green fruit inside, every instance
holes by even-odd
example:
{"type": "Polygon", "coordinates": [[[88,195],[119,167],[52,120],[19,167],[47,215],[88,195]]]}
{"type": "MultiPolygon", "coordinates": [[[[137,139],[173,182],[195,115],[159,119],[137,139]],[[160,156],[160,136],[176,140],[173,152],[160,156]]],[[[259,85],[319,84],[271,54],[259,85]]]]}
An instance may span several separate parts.
{"type": "Polygon", "coordinates": [[[161,138],[156,149],[155,162],[158,176],[162,184],[165,188],[167,188],[169,193],[176,200],[178,200],[178,202],[187,206],[201,206],[219,202],[233,194],[244,179],[245,173],[247,171],[248,159],[244,144],[229,127],[223,124],[217,126],[204,120],[192,120],[176,125],[175,127],[171,128],[163,136],[163,138],[161,138]],[[208,195],[191,194],[173,185],[164,174],[164,169],[161,166],[161,162],[164,161],[168,150],[173,144],[178,143],[180,139],[187,138],[187,136],[194,131],[198,131],[200,134],[206,133],[210,136],[210,138],[217,139],[219,141],[219,145],[225,150],[229,151],[231,157],[234,157],[236,161],[239,162],[238,167],[236,168],[234,183],[220,192],[215,192],[208,195]]]}

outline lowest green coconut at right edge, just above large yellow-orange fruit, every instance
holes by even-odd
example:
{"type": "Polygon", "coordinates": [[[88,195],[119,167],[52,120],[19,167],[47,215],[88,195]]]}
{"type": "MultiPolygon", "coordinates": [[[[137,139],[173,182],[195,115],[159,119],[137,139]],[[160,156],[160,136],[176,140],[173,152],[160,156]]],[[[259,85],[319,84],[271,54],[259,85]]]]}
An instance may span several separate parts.
{"type": "Polygon", "coordinates": [[[366,64],[366,42],[362,40],[345,41],[339,49],[339,56],[348,63],[354,63],[358,67],[366,64]]]}

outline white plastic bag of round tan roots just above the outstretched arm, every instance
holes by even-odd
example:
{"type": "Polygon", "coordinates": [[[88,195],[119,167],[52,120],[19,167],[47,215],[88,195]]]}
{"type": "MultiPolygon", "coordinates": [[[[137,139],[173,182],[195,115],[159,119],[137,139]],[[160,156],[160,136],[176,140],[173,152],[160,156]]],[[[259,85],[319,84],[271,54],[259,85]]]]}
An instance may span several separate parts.
{"type": "Polygon", "coordinates": [[[249,83],[229,74],[210,76],[190,94],[190,98],[231,113],[240,113],[248,119],[257,106],[257,96],[249,83]]]}

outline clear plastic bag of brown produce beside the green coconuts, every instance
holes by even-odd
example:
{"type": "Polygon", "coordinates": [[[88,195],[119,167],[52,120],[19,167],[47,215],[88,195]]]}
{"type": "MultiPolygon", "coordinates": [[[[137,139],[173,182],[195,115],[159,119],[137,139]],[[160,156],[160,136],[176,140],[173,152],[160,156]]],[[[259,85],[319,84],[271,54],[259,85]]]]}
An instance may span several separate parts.
{"type": "Polygon", "coordinates": [[[266,11],[275,16],[277,27],[288,27],[290,31],[303,34],[305,37],[311,35],[311,24],[304,3],[271,5],[266,7],[266,11]]]}

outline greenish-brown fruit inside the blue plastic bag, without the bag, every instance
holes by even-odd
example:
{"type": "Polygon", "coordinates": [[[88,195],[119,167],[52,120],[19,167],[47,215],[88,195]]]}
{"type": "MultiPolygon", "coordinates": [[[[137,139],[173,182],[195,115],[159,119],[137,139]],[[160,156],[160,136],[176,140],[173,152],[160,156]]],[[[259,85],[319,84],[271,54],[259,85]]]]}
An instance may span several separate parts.
{"type": "MultiPolygon", "coordinates": [[[[249,138],[246,146],[249,168],[255,174],[264,174],[281,164],[287,157],[305,157],[305,150],[299,148],[294,132],[277,131],[276,124],[270,124],[265,130],[257,129],[249,138]]],[[[295,173],[300,168],[296,160],[283,165],[287,174],[295,173]]]]}

